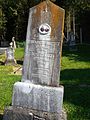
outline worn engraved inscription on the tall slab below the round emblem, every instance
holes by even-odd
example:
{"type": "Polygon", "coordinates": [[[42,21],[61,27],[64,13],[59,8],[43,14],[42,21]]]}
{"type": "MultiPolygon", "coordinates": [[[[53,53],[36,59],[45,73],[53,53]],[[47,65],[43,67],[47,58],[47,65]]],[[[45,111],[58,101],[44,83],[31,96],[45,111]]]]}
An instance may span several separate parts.
{"type": "Polygon", "coordinates": [[[60,49],[57,49],[60,42],[31,40],[29,46],[29,54],[33,59],[33,64],[37,63],[32,66],[31,79],[51,80],[55,59],[60,58],[60,49]]]}

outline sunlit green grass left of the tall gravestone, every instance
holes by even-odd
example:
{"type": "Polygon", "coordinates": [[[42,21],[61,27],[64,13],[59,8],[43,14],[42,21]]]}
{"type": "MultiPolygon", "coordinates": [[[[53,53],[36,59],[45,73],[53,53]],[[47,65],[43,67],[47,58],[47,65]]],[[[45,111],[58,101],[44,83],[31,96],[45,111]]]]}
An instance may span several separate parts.
{"type": "Polygon", "coordinates": [[[23,51],[23,48],[16,49],[15,59],[19,61],[19,63],[15,66],[5,66],[5,54],[0,55],[0,114],[3,114],[5,106],[11,105],[13,84],[21,80],[21,75],[14,74],[14,71],[22,66],[23,51]]]}

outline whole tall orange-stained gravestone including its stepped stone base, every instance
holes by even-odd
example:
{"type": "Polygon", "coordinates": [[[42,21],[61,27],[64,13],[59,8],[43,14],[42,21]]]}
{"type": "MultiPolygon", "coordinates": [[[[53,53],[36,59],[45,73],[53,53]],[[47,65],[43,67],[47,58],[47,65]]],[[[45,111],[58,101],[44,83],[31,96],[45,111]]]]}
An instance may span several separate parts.
{"type": "Polygon", "coordinates": [[[59,85],[63,28],[64,10],[52,2],[30,9],[22,80],[14,84],[4,120],[66,120],[59,85]]]}

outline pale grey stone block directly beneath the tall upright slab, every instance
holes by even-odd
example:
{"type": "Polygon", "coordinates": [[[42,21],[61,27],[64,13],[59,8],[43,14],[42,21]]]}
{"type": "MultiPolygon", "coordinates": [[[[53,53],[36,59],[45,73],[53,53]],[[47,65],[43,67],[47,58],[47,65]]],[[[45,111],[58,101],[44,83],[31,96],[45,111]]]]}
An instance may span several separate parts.
{"type": "Polygon", "coordinates": [[[62,104],[63,86],[50,87],[26,82],[14,84],[13,107],[29,108],[36,110],[38,116],[43,117],[47,113],[48,119],[61,120],[62,104]]]}

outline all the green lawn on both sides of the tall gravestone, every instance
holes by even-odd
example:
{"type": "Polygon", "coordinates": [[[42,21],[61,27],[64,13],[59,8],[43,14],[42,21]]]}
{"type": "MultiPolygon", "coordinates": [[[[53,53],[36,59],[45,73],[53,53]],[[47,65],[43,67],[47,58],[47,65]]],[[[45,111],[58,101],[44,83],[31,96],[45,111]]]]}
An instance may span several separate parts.
{"type": "MultiPolygon", "coordinates": [[[[17,48],[17,66],[23,62],[23,48],[17,48]]],[[[13,84],[21,75],[13,74],[13,66],[4,66],[5,55],[0,55],[0,113],[11,105],[13,84]]],[[[63,48],[60,84],[64,86],[64,108],[68,120],[90,120],[90,45],[77,51],[63,48]]],[[[1,119],[0,119],[1,120],[1,119]]]]}

